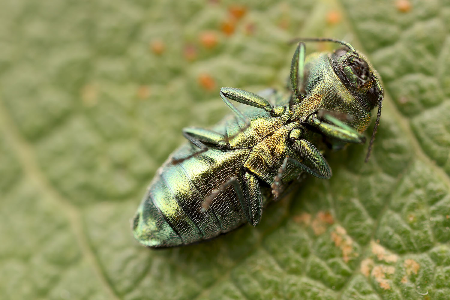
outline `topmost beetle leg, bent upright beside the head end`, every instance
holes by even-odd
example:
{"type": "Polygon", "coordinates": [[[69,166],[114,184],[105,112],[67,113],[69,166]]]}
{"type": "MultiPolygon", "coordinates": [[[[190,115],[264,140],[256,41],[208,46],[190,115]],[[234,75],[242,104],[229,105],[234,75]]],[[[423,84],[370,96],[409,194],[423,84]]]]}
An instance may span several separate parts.
{"type": "Polygon", "coordinates": [[[291,63],[291,85],[295,99],[293,104],[299,103],[305,98],[305,43],[298,43],[291,63]]]}

